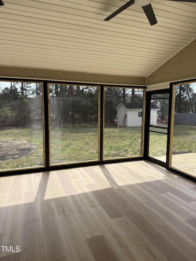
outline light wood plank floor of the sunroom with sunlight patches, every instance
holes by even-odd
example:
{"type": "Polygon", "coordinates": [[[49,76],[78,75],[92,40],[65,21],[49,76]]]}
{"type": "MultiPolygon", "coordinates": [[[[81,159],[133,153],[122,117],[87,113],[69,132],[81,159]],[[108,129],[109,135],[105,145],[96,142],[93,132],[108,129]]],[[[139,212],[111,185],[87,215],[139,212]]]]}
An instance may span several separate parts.
{"type": "Polygon", "coordinates": [[[1,261],[195,261],[196,183],[137,161],[0,177],[1,261]]]}

